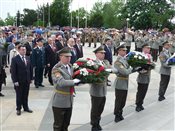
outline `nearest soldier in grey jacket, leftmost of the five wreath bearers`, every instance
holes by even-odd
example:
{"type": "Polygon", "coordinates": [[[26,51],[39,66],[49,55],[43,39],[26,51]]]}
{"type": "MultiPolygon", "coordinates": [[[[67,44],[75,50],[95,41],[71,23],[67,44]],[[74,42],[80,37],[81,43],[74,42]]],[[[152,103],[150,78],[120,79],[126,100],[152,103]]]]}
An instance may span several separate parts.
{"type": "Polygon", "coordinates": [[[65,47],[58,52],[60,61],[52,69],[55,94],[52,102],[54,131],[68,131],[72,115],[74,85],[79,79],[72,79],[73,68],[70,64],[71,51],[65,47]]]}

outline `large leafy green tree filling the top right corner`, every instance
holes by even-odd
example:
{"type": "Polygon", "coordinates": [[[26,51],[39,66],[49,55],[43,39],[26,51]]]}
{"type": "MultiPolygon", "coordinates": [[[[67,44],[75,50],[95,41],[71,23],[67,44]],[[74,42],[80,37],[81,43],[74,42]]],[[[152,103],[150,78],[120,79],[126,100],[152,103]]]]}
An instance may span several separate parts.
{"type": "Polygon", "coordinates": [[[129,18],[136,29],[164,28],[174,14],[166,0],[128,0],[122,12],[123,20],[129,18]]]}

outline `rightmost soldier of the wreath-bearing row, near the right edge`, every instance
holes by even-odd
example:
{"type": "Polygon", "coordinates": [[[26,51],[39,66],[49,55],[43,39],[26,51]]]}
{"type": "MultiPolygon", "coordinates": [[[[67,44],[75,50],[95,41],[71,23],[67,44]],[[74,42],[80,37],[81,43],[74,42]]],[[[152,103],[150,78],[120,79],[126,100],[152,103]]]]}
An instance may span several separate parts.
{"type": "Polygon", "coordinates": [[[167,90],[169,81],[170,81],[170,75],[171,75],[171,67],[167,65],[167,59],[171,56],[169,52],[170,44],[168,41],[165,41],[163,44],[163,50],[160,52],[159,59],[161,62],[160,67],[160,84],[159,84],[159,101],[162,101],[165,99],[164,95],[167,90]]]}

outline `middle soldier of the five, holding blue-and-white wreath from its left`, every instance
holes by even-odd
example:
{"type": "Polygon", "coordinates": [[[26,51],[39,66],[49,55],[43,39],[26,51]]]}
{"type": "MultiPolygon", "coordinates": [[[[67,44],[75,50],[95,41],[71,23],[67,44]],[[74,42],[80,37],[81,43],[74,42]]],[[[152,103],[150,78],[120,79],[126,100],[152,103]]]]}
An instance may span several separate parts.
{"type": "Polygon", "coordinates": [[[123,120],[122,112],[126,103],[128,92],[129,74],[132,73],[132,67],[130,67],[124,58],[127,48],[122,44],[116,48],[118,53],[117,59],[114,63],[114,68],[118,70],[115,79],[115,122],[123,120]]]}

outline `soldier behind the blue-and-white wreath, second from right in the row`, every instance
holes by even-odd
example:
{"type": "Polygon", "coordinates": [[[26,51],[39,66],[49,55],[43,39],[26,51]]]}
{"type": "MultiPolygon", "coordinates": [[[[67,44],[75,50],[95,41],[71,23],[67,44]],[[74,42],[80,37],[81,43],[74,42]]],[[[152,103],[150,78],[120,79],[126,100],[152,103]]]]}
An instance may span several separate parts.
{"type": "MultiPolygon", "coordinates": [[[[143,55],[152,62],[152,56],[150,55],[150,46],[148,44],[144,44],[142,46],[143,55]]],[[[139,75],[137,77],[137,94],[136,94],[136,111],[144,110],[142,106],[144,98],[146,96],[148,85],[150,82],[151,69],[142,69],[139,71],[139,75]]]]}

